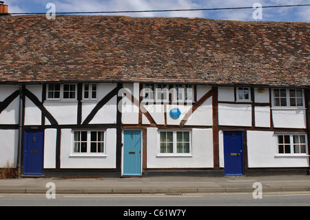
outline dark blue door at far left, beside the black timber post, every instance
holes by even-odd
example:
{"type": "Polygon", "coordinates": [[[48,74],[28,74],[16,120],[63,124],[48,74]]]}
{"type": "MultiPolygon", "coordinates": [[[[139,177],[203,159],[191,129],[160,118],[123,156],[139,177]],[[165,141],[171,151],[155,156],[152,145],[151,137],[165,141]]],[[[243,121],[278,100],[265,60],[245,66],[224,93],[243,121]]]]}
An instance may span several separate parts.
{"type": "Polygon", "coordinates": [[[23,174],[42,175],[43,174],[43,130],[25,131],[23,150],[23,174]]]}

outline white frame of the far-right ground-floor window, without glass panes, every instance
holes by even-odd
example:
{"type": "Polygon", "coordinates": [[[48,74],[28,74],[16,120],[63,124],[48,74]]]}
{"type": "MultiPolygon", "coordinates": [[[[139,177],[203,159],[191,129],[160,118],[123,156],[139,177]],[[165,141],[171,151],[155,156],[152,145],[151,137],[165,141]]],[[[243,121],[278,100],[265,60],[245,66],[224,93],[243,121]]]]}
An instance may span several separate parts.
{"type": "MultiPolygon", "coordinates": [[[[276,157],[309,157],[308,154],[308,140],[307,140],[307,134],[306,133],[278,133],[276,134],[277,138],[277,154],[276,157]],[[283,136],[283,143],[279,143],[279,136],[283,136]],[[289,143],[285,143],[285,136],[289,136],[289,143]],[[294,147],[297,145],[294,143],[294,136],[298,136],[298,140],[300,142],[300,136],[304,136],[304,145],[305,146],[305,152],[295,152],[294,147]],[[283,151],[282,153],[279,152],[279,146],[283,145],[283,151]],[[289,146],[289,153],[285,153],[285,146],[289,146]]],[[[298,143],[300,146],[300,143],[298,143]]],[[[299,148],[300,149],[300,148],[299,148]]]]}

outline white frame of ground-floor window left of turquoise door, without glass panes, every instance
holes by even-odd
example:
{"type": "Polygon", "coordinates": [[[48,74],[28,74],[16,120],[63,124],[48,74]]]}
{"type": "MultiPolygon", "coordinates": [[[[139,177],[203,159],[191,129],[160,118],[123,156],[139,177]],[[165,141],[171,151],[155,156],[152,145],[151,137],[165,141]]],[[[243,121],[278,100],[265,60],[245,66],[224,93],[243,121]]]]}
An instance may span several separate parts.
{"type": "MultiPolygon", "coordinates": [[[[98,137],[97,137],[98,139],[98,137]]],[[[106,157],[106,131],[105,130],[72,130],[72,153],[70,157],[106,157]],[[75,141],[74,140],[74,133],[80,132],[80,140],[75,141]],[[84,143],[87,143],[87,151],[86,152],[74,152],[74,143],[81,143],[81,132],[87,132],[87,141],[83,141],[84,143]],[[103,143],[103,152],[91,152],[91,143],[94,143],[94,141],[91,140],[91,132],[103,132],[103,141],[96,141],[96,143],[103,143]]],[[[81,146],[80,146],[81,148],[81,146]]]]}

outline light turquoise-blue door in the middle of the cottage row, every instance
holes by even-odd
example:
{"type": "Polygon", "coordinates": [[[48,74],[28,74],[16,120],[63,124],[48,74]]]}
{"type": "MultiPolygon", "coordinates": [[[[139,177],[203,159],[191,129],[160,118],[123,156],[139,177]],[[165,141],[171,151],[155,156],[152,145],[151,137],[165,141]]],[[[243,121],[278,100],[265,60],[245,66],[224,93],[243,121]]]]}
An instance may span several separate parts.
{"type": "Polygon", "coordinates": [[[124,130],[123,176],[141,176],[141,130],[124,130]]]}

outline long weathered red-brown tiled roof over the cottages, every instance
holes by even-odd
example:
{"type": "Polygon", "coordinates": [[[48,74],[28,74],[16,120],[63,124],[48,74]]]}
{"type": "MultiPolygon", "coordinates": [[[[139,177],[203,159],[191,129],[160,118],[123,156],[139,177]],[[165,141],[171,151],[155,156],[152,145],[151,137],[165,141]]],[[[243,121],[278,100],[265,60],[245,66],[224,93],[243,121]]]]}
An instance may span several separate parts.
{"type": "Polygon", "coordinates": [[[310,86],[310,23],[0,17],[0,83],[310,86]]]}

